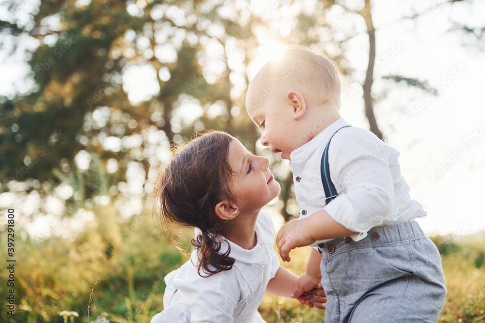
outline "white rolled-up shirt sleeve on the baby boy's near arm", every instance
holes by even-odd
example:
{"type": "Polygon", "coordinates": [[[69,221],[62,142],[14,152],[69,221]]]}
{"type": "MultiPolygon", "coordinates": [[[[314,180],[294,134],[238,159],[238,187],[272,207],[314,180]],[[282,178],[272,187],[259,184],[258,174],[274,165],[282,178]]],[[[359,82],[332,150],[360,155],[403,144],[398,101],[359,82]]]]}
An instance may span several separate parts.
{"type": "Polygon", "coordinates": [[[338,135],[330,142],[328,156],[339,196],[325,211],[348,230],[367,232],[380,225],[394,205],[392,174],[382,153],[385,143],[365,130],[345,134],[345,141],[338,135]]]}

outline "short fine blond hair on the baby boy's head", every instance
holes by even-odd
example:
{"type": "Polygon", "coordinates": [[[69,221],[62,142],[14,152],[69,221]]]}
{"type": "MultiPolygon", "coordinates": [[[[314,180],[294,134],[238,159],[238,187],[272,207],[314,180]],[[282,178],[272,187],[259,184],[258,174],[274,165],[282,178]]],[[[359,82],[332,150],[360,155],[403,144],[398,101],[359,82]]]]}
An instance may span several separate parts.
{"type": "Polygon", "coordinates": [[[306,99],[314,98],[316,104],[333,101],[340,108],[341,83],[337,64],[308,47],[287,46],[280,59],[267,62],[261,68],[254,77],[257,78],[263,85],[256,90],[259,92],[256,98],[247,102],[249,105],[259,105],[274,92],[282,90],[285,84],[298,89],[306,99]]]}

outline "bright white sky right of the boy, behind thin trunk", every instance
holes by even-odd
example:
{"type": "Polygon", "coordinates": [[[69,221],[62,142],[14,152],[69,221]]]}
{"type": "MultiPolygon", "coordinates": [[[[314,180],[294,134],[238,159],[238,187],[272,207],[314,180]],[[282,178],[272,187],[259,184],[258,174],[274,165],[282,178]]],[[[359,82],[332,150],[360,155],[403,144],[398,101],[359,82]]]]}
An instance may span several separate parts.
{"type": "MultiPolygon", "coordinates": [[[[454,236],[484,230],[485,55],[475,48],[460,46],[460,36],[446,33],[451,16],[456,19],[465,16],[471,26],[480,19],[483,26],[477,13],[485,12],[484,3],[477,2],[470,12],[447,4],[421,16],[416,24],[388,25],[404,12],[404,8],[393,8],[396,2],[382,0],[374,6],[378,9],[373,13],[378,30],[376,57],[377,60],[382,55],[391,57],[385,64],[376,63],[376,68],[384,75],[426,79],[439,95],[431,100],[424,93],[409,98],[406,97],[409,92],[403,91],[391,104],[402,100],[409,113],[379,115],[379,109],[384,107],[378,106],[378,121],[381,125],[390,123],[395,129],[387,142],[401,152],[399,160],[411,187],[411,198],[418,200],[428,213],[418,220],[423,230],[454,236]],[[380,26],[388,27],[380,29],[380,26]],[[392,53],[393,44],[402,48],[392,53]]],[[[424,9],[437,3],[424,2],[415,4],[424,9]]],[[[365,70],[366,64],[365,60],[360,62],[361,70],[365,70]]],[[[349,98],[343,93],[342,116],[349,123],[366,127],[360,98],[349,98]]]]}

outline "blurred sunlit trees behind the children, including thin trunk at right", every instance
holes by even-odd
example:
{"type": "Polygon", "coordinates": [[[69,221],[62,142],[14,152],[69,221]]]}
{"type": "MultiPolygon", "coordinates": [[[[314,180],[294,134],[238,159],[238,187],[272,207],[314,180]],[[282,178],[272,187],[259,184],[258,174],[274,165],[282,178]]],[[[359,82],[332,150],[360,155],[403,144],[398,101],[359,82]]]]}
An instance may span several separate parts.
{"type": "MultiPolygon", "coordinates": [[[[11,11],[23,5],[7,2],[11,11]]],[[[149,192],[151,167],[167,158],[158,154],[160,148],[190,138],[194,129],[226,130],[256,152],[259,135],[244,113],[244,98],[260,35],[324,52],[346,76],[352,67],[343,64],[345,43],[355,34],[328,18],[336,7],[343,9],[344,20],[358,15],[365,21],[370,49],[364,111],[382,138],[371,95],[375,32],[369,0],[361,7],[344,1],[251,7],[198,0],[92,0],[78,6],[59,0],[42,1],[33,26],[0,21],[3,31],[28,34],[39,44],[29,61],[32,91],[0,99],[2,189],[27,183],[27,192],[46,198],[55,187],[68,185],[72,192],[63,199],[73,213],[102,196],[112,203],[129,198],[120,183],[129,182],[130,168],[145,177],[130,182],[138,187],[133,194],[149,192]],[[284,14],[283,6],[291,7],[292,15],[284,14]],[[130,100],[129,75],[140,70],[154,80],[154,89],[146,98],[130,100]]],[[[387,77],[425,87],[412,77],[387,77]]],[[[280,161],[270,158],[277,168],[280,161]]],[[[281,213],[288,220],[295,205],[291,173],[280,171],[276,178],[282,183],[281,213]]]]}

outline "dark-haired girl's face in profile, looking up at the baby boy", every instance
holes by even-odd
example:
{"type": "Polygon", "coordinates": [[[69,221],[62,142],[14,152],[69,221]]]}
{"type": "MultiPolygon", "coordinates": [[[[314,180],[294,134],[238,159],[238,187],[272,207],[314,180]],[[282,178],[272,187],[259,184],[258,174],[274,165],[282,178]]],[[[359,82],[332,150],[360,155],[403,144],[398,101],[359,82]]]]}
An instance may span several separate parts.
{"type": "Polygon", "coordinates": [[[228,161],[236,173],[230,188],[241,213],[259,210],[279,194],[279,183],[268,169],[268,158],[249,153],[234,139],[229,144],[228,161]]]}

